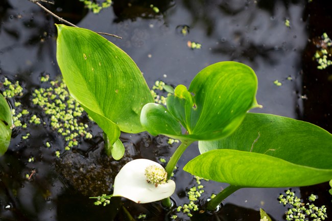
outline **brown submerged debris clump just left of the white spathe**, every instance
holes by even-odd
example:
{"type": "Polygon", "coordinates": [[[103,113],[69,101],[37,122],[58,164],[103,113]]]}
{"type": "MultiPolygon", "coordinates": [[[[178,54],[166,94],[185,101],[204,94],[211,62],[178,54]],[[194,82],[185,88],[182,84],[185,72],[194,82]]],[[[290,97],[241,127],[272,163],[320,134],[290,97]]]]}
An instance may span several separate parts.
{"type": "Polygon", "coordinates": [[[87,156],[72,151],[65,152],[58,160],[56,170],[69,186],[90,197],[109,193],[118,171],[131,160],[133,159],[125,152],[125,156],[116,161],[108,157],[103,145],[100,145],[87,156]]]}

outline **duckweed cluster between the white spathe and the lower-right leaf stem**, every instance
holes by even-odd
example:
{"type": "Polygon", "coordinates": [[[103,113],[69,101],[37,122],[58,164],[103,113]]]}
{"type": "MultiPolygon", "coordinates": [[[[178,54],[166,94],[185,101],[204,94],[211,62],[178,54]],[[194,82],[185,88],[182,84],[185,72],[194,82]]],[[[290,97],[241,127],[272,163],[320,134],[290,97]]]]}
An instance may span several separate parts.
{"type": "Polygon", "coordinates": [[[198,176],[195,176],[197,186],[194,185],[193,187],[189,188],[189,191],[187,192],[187,197],[189,200],[188,204],[183,204],[183,206],[178,206],[176,208],[177,212],[183,212],[187,216],[192,217],[193,211],[198,211],[198,200],[201,197],[201,194],[204,192],[204,186],[201,184],[201,180],[203,178],[200,178],[198,176]]]}

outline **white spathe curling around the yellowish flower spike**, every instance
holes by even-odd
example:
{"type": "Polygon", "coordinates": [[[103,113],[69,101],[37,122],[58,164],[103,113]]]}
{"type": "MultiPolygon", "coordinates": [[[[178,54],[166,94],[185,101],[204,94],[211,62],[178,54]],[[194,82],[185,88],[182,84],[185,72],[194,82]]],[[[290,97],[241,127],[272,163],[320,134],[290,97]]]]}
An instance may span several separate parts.
{"type": "Polygon", "coordinates": [[[136,203],[150,203],[170,197],[175,191],[175,182],[168,180],[165,184],[148,183],[145,169],[159,163],[147,159],[137,159],[128,162],[114,180],[113,197],[124,197],[136,203]]]}

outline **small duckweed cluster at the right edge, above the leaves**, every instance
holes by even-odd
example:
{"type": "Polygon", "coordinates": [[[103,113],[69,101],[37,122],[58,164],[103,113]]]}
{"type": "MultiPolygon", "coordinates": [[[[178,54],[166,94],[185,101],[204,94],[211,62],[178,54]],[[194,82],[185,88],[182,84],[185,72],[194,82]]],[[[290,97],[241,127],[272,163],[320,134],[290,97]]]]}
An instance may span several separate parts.
{"type": "Polygon", "coordinates": [[[332,41],[326,33],[321,36],[321,39],[321,43],[318,45],[320,50],[316,51],[314,56],[314,59],[316,59],[319,64],[317,68],[320,70],[332,65],[332,61],[328,59],[331,57],[332,41]]]}

